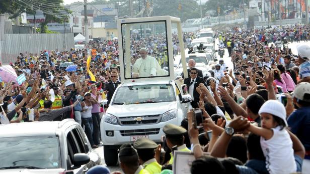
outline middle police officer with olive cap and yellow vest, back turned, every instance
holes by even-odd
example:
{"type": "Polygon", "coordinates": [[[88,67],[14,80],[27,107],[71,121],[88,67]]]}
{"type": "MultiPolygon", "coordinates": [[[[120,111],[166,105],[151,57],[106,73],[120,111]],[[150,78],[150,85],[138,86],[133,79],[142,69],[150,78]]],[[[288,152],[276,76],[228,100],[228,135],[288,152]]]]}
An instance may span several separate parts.
{"type": "Polygon", "coordinates": [[[144,170],[149,174],[160,173],[162,171],[162,165],[155,159],[155,151],[158,147],[156,142],[148,138],[140,138],[133,143],[133,147],[137,149],[140,164],[142,164],[144,170]]]}

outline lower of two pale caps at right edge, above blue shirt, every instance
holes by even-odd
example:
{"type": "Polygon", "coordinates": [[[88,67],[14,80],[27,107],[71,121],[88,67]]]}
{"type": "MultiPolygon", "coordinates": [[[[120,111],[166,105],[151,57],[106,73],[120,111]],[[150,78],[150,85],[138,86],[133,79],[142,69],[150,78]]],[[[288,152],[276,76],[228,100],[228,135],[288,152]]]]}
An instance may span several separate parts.
{"type": "Polygon", "coordinates": [[[296,85],[293,96],[299,100],[310,102],[310,83],[301,82],[296,85]]]}

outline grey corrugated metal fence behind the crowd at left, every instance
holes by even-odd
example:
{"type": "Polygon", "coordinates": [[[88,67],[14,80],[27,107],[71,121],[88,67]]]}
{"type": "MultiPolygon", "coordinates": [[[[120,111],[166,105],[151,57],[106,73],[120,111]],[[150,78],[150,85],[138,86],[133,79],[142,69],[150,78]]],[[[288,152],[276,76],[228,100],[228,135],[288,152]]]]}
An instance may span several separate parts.
{"type": "Polygon", "coordinates": [[[15,62],[20,53],[40,54],[42,50],[69,50],[74,48],[73,33],[67,34],[6,34],[0,62],[15,62]],[[1,60],[2,58],[2,60],[1,60]]]}

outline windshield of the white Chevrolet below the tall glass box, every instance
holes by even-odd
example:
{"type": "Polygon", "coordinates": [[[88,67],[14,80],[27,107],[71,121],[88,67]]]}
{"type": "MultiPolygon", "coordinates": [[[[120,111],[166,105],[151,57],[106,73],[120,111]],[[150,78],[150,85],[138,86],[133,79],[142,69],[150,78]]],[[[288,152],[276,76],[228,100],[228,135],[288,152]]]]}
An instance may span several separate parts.
{"type": "Polygon", "coordinates": [[[176,101],[171,84],[149,84],[120,87],[112,105],[176,101]]]}

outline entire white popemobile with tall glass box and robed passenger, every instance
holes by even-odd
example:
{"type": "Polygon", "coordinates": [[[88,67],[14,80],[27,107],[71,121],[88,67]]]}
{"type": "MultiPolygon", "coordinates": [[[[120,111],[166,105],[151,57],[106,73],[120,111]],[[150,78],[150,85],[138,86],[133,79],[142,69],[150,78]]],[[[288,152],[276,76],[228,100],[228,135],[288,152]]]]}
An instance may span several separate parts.
{"type": "MultiPolygon", "coordinates": [[[[184,48],[179,18],[121,19],[117,20],[117,28],[121,84],[116,87],[100,126],[107,165],[117,163],[117,150],[124,143],[133,144],[142,137],[161,143],[165,135],[163,127],[168,123],[180,125],[192,100],[190,95],[183,94],[181,82],[174,80],[172,28],[177,28],[180,48],[184,48]],[[160,49],[151,54],[147,45],[141,46],[140,57],[133,60],[131,48],[135,35],[140,40],[155,38],[154,44],[160,49]],[[161,38],[160,43],[157,38],[161,38]],[[168,57],[165,66],[156,59],[160,53],[168,57]]],[[[186,65],[184,49],[181,61],[186,65]]],[[[187,72],[186,66],[183,72],[187,72]]],[[[187,73],[183,74],[187,78],[187,73]]]]}

